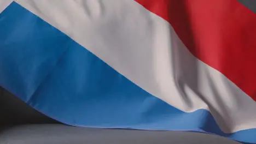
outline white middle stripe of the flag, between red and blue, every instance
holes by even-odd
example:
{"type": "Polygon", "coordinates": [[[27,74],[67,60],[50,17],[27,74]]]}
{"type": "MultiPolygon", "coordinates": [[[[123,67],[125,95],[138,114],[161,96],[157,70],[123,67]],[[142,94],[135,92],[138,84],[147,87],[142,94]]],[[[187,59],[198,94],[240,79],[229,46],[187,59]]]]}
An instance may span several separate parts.
{"type": "Polygon", "coordinates": [[[168,104],[209,110],[225,133],[256,128],[255,101],[191,55],[168,22],[135,1],[19,3],[168,104]]]}

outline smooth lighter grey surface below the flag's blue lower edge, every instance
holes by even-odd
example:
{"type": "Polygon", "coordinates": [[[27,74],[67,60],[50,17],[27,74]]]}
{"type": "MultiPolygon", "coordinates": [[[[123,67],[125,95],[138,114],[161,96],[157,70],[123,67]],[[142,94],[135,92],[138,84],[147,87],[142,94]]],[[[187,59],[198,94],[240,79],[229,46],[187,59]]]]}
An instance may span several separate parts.
{"type": "Polygon", "coordinates": [[[216,135],[181,131],[143,131],[77,128],[61,124],[30,124],[5,129],[1,144],[80,144],[80,143],[225,143],[238,142],[216,135]]]}

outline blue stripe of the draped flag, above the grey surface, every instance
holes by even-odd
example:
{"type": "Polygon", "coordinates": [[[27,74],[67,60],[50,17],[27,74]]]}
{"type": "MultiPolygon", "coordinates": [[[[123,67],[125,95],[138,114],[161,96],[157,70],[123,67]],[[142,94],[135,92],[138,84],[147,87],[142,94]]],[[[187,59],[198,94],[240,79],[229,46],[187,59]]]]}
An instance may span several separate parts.
{"type": "Polygon", "coordinates": [[[0,86],[45,115],[81,127],[224,134],[210,112],[186,113],[150,95],[58,29],[13,2],[0,14],[0,86]]]}

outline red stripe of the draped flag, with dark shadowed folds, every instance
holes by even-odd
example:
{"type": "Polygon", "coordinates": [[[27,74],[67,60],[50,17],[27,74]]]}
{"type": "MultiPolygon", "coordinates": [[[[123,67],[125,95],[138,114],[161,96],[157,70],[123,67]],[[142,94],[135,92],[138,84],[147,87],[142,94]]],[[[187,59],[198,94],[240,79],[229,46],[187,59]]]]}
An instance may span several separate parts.
{"type": "Polygon", "coordinates": [[[256,16],[235,0],[137,0],[170,22],[194,56],[256,100],[256,16]]]}

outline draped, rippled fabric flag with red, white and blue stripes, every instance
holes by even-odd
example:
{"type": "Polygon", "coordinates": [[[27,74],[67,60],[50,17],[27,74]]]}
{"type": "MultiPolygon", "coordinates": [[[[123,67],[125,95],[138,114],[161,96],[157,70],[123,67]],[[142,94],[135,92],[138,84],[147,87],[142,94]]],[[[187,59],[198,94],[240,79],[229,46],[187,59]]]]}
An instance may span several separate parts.
{"type": "Polygon", "coordinates": [[[256,143],[256,14],[241,2],[4,0],[0,12],[0,86],[46,116],[256,143]]]}

